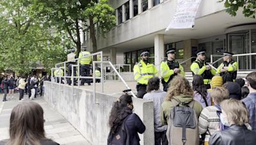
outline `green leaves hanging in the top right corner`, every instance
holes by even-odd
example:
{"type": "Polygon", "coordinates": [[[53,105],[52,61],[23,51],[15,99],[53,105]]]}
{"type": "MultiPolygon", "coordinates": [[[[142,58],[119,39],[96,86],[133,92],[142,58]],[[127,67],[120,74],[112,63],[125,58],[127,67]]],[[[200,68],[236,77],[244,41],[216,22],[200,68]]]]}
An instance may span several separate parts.
{"type": "Polygon", "coordinates": [[[236,16],[237,10],[243,8],[245,17],[255,18],[256,15],[256,1],[255,0],[221,0],[225,1],[224,5],[227,8],[227,13],[236,16]]]}

